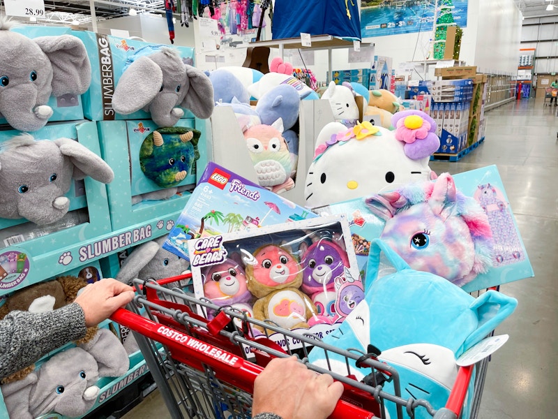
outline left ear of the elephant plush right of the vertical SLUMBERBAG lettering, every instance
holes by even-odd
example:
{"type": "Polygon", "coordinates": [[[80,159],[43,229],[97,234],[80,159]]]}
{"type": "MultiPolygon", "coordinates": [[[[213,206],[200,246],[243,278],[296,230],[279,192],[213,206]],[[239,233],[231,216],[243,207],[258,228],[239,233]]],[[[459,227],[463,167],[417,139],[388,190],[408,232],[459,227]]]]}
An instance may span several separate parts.
{"type": "Polygon", "coordinates": [[[122,115],[136,112],[153,101],[162,85],[163,71],[158,64],[140,57],[122,73],[114,89],[112,108],[122,115]]]}

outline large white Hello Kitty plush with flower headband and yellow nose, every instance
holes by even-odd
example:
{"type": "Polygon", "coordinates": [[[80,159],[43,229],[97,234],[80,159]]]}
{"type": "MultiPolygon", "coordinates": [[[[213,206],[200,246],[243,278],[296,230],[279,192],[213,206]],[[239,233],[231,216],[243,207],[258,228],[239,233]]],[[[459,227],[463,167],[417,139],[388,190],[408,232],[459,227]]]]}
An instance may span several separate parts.
{"type": "Polygon", "coordinates": [[[322,207],[435,179],[428,166],[430,154],[439,147],[434,120],[413,110],[397,112],[392,122],[398,126],[395,131],[370,122],[349,129],[339,122],[326,124],[308,168],[306,206],[322,207]]]}

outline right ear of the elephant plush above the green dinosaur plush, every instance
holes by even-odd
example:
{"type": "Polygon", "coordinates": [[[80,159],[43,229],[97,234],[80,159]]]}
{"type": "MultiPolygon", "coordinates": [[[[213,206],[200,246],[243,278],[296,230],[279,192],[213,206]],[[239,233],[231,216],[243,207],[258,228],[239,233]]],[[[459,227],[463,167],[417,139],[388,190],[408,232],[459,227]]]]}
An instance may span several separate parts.
{"type": "Polygon", "coordinates": [[[181,103],[183,108],[193,112],[202,119],[211,117],[215,103],[213,103],[213,84],[203,71],[186,64],[186,77],[190,87],[181,103]]]}

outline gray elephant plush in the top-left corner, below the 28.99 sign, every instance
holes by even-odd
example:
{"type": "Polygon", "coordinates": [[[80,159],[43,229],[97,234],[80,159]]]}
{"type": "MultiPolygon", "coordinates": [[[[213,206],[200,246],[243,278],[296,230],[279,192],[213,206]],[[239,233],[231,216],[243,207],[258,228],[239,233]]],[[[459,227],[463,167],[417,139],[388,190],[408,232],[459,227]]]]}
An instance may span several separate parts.
{"type": "Polygon", "coordinates": [[[71,35],[27,38],[0,23],[0,116],[37,131],[52,116],[51,95],[83,94],[91,83],[85,46],[71,35]]]}

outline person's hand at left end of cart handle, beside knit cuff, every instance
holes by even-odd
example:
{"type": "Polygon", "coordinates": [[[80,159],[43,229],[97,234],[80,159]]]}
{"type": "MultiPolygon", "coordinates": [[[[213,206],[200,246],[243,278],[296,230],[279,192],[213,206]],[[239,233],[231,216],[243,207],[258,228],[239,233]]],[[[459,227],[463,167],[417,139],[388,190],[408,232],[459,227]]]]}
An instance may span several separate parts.
{"type": "Polygon", "coordinates": [[[124,307],[134,297],[134,289],[116,279],[105,278],[82,288],[75,302],[80,304],[85,314],[85,325],[98,325],[114,310],[124,307]]]}

